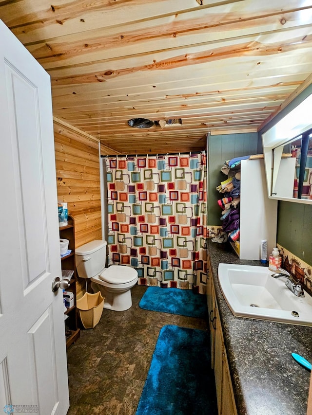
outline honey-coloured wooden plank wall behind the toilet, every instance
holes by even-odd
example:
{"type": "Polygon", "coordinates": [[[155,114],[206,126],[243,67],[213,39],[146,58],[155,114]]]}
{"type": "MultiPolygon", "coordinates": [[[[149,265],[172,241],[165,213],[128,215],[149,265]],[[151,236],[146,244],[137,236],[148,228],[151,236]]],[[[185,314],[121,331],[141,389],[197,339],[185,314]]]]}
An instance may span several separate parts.
{"type": "MultiPolygon", "coordinates": [[[[99,141],[56,118],[54,133],[58,199],[75,218],[78,248],[102,237],[99,141]]],[[[85,290],[84,280],[78,278],[77,290],[78,295],[85,290]]]]}

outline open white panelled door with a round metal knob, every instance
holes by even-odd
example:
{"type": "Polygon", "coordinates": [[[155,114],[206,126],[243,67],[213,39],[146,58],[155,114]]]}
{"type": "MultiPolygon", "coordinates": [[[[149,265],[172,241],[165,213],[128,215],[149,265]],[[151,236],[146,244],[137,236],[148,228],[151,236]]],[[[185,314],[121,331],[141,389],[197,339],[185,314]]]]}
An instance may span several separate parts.
{"type": "Polygon", "coordinates": [[[69,407],[50,77],[0,21],[0,413],[69,407]]]}

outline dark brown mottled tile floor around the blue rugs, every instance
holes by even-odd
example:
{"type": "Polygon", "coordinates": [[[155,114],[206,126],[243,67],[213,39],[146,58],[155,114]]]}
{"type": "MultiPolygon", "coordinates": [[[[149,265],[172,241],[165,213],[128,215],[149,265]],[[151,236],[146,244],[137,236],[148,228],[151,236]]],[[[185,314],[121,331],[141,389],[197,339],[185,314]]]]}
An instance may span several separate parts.
{"type": "Polygon", "coordinates": [[[134,415],[161,327],[207,330],[205,320],[139,308],[146,289],[132,289],[129,310],[104,309],[98,325],[81,330],[68,349],[68,415],[134,415]]]}

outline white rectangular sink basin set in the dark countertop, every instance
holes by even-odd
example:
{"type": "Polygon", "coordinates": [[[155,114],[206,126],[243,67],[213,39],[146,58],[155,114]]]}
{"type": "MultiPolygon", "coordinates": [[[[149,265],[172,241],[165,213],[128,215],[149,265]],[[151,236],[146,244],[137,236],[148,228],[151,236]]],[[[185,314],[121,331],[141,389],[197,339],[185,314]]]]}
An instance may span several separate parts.
{"type": "Polygon", "coordinates": [[[272,274],[267,267],[219,264],[220,288],[234,316],[312,326],[312,297],[297,297],[285,278],[272,274]]]}

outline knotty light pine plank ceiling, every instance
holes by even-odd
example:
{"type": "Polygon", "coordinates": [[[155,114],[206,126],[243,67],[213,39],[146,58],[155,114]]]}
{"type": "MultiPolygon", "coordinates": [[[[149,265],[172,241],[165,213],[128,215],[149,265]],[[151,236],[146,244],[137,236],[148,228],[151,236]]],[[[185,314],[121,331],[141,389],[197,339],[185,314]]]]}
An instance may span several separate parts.
{"type": "Polygon", "coordinates": [[[123,154],[257,131],[312,78],[312,0],[0,0],[0,18],[51,75],[54,115],[123,154]]]}

